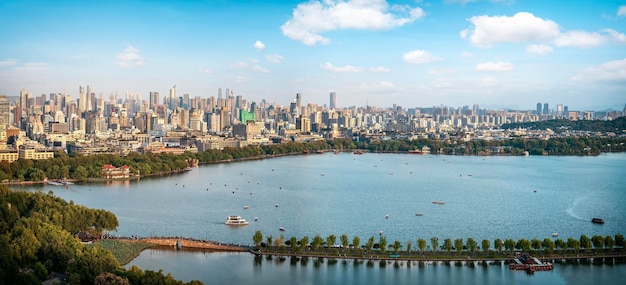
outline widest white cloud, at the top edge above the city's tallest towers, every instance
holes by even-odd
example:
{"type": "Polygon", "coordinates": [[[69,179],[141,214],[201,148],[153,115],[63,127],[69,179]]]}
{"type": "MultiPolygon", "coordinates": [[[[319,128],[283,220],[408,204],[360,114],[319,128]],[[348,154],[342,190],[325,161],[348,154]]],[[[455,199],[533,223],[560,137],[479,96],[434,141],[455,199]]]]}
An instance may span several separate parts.
{"type": "Polygon", "coordinates": [[[283,35],[306,45],[328,44],[321,34],[341,29],[381,30],[411,23],[424,16],[419,7],[393,5],[386,0],[323,0],[300,3],[280,28],[283,35]]]}

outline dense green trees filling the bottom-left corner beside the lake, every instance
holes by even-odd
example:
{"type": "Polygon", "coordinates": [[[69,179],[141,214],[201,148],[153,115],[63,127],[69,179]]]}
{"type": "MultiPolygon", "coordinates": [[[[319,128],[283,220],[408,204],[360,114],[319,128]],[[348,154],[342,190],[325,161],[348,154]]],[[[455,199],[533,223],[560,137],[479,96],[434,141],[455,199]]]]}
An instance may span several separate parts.
{"type": "Polygon", "coordinates": [[[129,284],[183,284],[145,283],[142,280],[160,276],[165,280],[167,276],[139,269],[125,271],[111,251],[98,243],[83,244],[75,237],[79,231],[98,234],[117,226],[111,212],[68,203],[52,192],[11,191],[0,185],[0,285],[41,284],[52,272],[67,274],[70,284],[94,284],[106,272],[129,284]]]}

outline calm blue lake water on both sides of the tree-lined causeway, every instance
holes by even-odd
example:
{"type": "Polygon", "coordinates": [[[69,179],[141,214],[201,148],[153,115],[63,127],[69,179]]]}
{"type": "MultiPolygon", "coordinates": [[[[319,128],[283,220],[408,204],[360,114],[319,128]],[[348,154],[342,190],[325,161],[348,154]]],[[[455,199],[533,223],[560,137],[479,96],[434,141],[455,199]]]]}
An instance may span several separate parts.
{"type": "MultiPolygon", "coordinates": [[[[430,237],[438,237],[440,244],[446,238],[468,237],[479,244],[482,239],[493,244],[495,238],[543,239],[555,232],[562,239],[578,238],[581,234],[589,237],[626,234],[625,165],[625,153],[598,157],[327,153],[204,165],[181,175],[132,182],[78,184],[69,189],[49,185],[12,188],[54,191],[77,204],[110,210],[120,222],[113,234],[121,236],[185,236],[251,244],[254,232],[260,230],[264,236],[284,235],[286,239],[347,234],[351,240],[356,235],[364,243],[370,236],[378,240],[382,231],[388,243],[398,240],[403,245],[408,240],[416,245],[418,238],[429,240],[430,237]],[[228,215],[240,215],[250,225],[226,226],[224,220],[228,215]],[[603,218],[606,223],[593,224],[590,222],[593,217],[603,218]],[[285,231],[279,231],[280,227],[285,231]]],[[[148,252],[149,256],[158,255],[153,250],[148,252]]],[[[283,267],[288,270],[280,274],[293,271],[289,262],[285,266],[264,262],[260,270],[261,267],[253,265],[254,258],[250,255],[203,256],[208,262],[214,259],[225,264],[233,262],[235,267],[240,262],[250,264],[250,278],[266,271],[281,271],[283,267]],[[266,270],[267,267],[275,269],[266,270]]],[[[188,263],[196,259],[194,254],[183,258],[188,263]]],[[[146,257],[142,255],[139,259],[146,257]]],[[[389,267],[384,272],[391,270],[389,267]]],[[[174,271],[166,265],[154,268],[174,271]]],[[[302,274],[319,268],[306,269],[302,274]]],[[[324,268],[335,270],[342,266],[324,268]]],[[[429,272],[432,278],[440,278],[439,274],[469,274],[472,280],[487,282],[495,278],[491,274],[497,275],[489,273],[480,277],[483,269],[468,267],[450,267],[454,274],[441,273],[445,272],[444,266],[432,268],[419,270],[429,272]],[[467,269],[470,273],[463,273],[467,269]]],[[[491,268],[487,271],[500,270],[491,268]]],[[[595,271],[596,267],[593,268],[595,271]]],[[[506,276],[502,278],[517,280],[507,277],[517,276],[511,275],[517,272],[505,269],[506,276]]],[[[607,270],[624,273],[624,266],[607,270]]],[[[400,268],[400,271],[407,270],[400,268]]],[[[402,274],[411,275],[413,271],[418,270],[412,268],[402,274]]],[[[349,271],[337,272],[341,276],[352,275],[349,271]]],[[[354,276],[386,274],[381,272],[364,269],[354,276]]],[[[565,274],[567,269],[535,276],[561,276],[559,272],[565,274]]],[[[296,277],[300,281],[309,280],[306,276],[296,277]]],[[[564,282],[570,283],[566,279],[564,282]]],[[[320,282],[311,280],[311,283],[320,282]]]]}

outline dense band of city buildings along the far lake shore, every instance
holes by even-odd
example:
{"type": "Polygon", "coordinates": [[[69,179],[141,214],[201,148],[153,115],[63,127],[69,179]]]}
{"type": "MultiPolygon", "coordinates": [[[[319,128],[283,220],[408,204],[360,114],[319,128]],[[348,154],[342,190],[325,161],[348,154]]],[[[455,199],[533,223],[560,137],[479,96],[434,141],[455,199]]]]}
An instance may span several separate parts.
{"type": "MultiPolygon", "coordinates": [[[[339,107],[336,92],[330,104],[303,105],[302,93],[283,106],[280,102],[248,101],[234,90],[217,90],[217,97],[177,95],[172,86],[166,96],[149,92],[111,94],[105,98],[91,86],[79,86],[78,98],[50,93],[35,97],[27,89],[19,96],[0,96],[0,160],[33,159],[54,150],[83,154],[203,151],[250,144],[311,141],[349,137],[390,139],[445,139],[462,131],[466,139],[499,139],[510,134],[504,123],[548,119],[612,120],[622,111],[570,111],[557,104],[537,103],[536,110],[488,110],[479,105],[390,108],[339,107]]],[[[515,135],[519,135],[516,133],[515,135]]],[[[528,135],[528,133],[526,133],[528,135]]],[[[549,137],[550,133],[533,134],[549,137]]]]}

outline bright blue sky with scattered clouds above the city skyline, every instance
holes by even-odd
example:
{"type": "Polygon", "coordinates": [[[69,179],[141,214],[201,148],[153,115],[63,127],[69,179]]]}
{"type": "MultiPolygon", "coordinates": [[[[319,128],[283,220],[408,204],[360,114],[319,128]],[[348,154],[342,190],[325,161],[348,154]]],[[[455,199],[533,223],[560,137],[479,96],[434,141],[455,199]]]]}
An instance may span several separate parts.
{"type": "Polygon", "coordinates": [[[0,2],[0,94],[621,110],[626,0],[0,2]]]}

